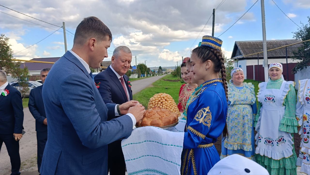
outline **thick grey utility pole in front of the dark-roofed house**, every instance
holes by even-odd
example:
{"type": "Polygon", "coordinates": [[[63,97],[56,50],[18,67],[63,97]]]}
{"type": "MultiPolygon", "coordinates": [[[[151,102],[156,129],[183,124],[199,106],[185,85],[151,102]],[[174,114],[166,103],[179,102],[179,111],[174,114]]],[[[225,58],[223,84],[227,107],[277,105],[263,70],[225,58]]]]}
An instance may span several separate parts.
{"type": "Polygon", "coordinates": [[[265,27],[265,6],[264,0],[260,1],[261,11],[262,11],[262,28],[263,28],[263,55],[264,55],[264,74],[265,81],[268,80],[268,57],[267,57],[267,41],[266,41],[266,27],[265,27]]]}

